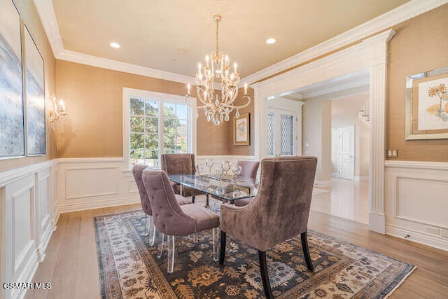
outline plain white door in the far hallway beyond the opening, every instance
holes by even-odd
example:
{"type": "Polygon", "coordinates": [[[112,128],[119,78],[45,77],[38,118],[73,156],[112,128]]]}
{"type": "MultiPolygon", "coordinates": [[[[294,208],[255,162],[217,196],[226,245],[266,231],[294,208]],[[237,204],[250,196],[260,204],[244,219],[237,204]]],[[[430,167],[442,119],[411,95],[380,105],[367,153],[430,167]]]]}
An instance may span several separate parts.
{"type": "Polygon", "coordinates": [[[339,128],[339,178],[355,176],[355,127],[339,128]]]}

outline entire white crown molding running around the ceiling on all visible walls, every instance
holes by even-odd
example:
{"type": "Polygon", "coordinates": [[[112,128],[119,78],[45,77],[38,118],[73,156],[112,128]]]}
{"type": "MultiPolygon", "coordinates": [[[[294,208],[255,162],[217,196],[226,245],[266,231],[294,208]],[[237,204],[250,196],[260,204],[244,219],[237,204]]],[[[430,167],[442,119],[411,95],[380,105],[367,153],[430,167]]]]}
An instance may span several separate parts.
{"type": "MultiPolygon", "coordinates": [[[[141,67],[136,64],[129,64],[126,62],[118,62],[116,60],[109,60],[102,57],[96,57],[92,55],[86,55],[83,53],[74,52],[71,50],[65,50],[64,44],[62,43],[62,36],[59,32],[59,27],[57,25],[57,19],[55,15],[55,10],[52,6],[51,0],[33,0],[36,10],[41,22],[43,29],[47,34],[48,41],[52,48],[53,54],[59,60],[66,60],[70,62],[76,62],[80,64],[87,64],[93,67],[101,67],[104,69],[113,69],[115,71],[124,71],[130,74],[137,74],[141,76],[149,76],[153,78],[160,78],[169,81],[175,81],[180,83],[193,83],[194,78],[190,76],[185,76],[181,74],[174,74],[168,71],[160,71],[158,69],[151,69],[148,67],[141,67]]],[[[448,0],[412,0],[403,4],[398,8],[393,9],[374,18],[368,22],[359,25],[347,32],[339,34],[338,36],[328,39],[323,43],[320,43],[314,47],[304,50],[296,55],[293,55],[281,62],[272,64],[272,66],[257,71],[254,74],[246,76],[241,79],[242,82],[247,82],[248,84],[256,83],[257,81],[267,78],[274,74],[279,73],[285,69],[295,67],[297,64],[302,62],[307,62],[315,57],[324,55],[332,50],[337,50],[350,43],[360,41],[365,39],[367,36],[371,36],[384,29],[388,29],[393,25],[400,22],[404,22],[417,15],[426,13],[434,8],[447,4],[448,0]]],[[[216,86],[216,89],[221,89],[216,86]]]]}

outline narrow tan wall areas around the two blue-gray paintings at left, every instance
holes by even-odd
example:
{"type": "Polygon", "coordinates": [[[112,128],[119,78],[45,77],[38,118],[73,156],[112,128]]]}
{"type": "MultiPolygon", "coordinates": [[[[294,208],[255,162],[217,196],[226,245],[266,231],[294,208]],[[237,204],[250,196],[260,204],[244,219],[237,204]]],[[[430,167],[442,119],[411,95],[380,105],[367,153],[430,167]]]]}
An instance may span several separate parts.
{"type": "MultiPolygon", "coordinates": [[[[41,55],[45,62],[45,99],[49,99],[49,95],[55,92],[55,57],[48,43],[47,36],[43,30],[41,20],[38,18],[33,0],[15,1],[20,18],[27,25],[31,36],[37,44],[37,48],[41,51],[41,55]]],[[[48,104],[48,103],[47,103],[48,104]]],[[[48,107],[48,105],[47,105],[48,107]]],[[[48,108],[46,108],[48,111],[48,108]]],[[[48,116],[48,113],[47,113],[48,116]]],[[[53,158],[55,150],[53,147],[50,126],[47,121],[47,154],[37,157],[15,158],[8,160],[0,160],[0,171],[13,169],[20,166],[30,165],[43,162],[53,158]]]]}

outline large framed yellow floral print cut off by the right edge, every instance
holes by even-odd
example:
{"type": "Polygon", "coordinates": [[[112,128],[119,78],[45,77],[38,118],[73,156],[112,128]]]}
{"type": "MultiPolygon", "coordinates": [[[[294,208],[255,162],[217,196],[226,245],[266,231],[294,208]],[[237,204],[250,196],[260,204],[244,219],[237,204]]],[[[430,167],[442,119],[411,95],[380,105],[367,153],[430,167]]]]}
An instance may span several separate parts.
{"type": "Polygon", "coordinates": [[[448,139],[448,67],[406,78],[405,139],[448,139]]]}

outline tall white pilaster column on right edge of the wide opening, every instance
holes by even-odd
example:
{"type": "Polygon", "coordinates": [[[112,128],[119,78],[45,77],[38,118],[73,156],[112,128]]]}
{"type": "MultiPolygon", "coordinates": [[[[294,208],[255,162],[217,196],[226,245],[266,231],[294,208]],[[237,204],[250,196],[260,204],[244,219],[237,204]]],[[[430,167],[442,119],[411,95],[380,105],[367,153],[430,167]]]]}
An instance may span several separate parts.
{"type": "Polygon", "coordinates": [[[390,29],[363,41],[370,60],[370,180],[369,228],[386,233],[384,214],[384,155],[387,87],[387,47],[395,32],[390,29]]]}

